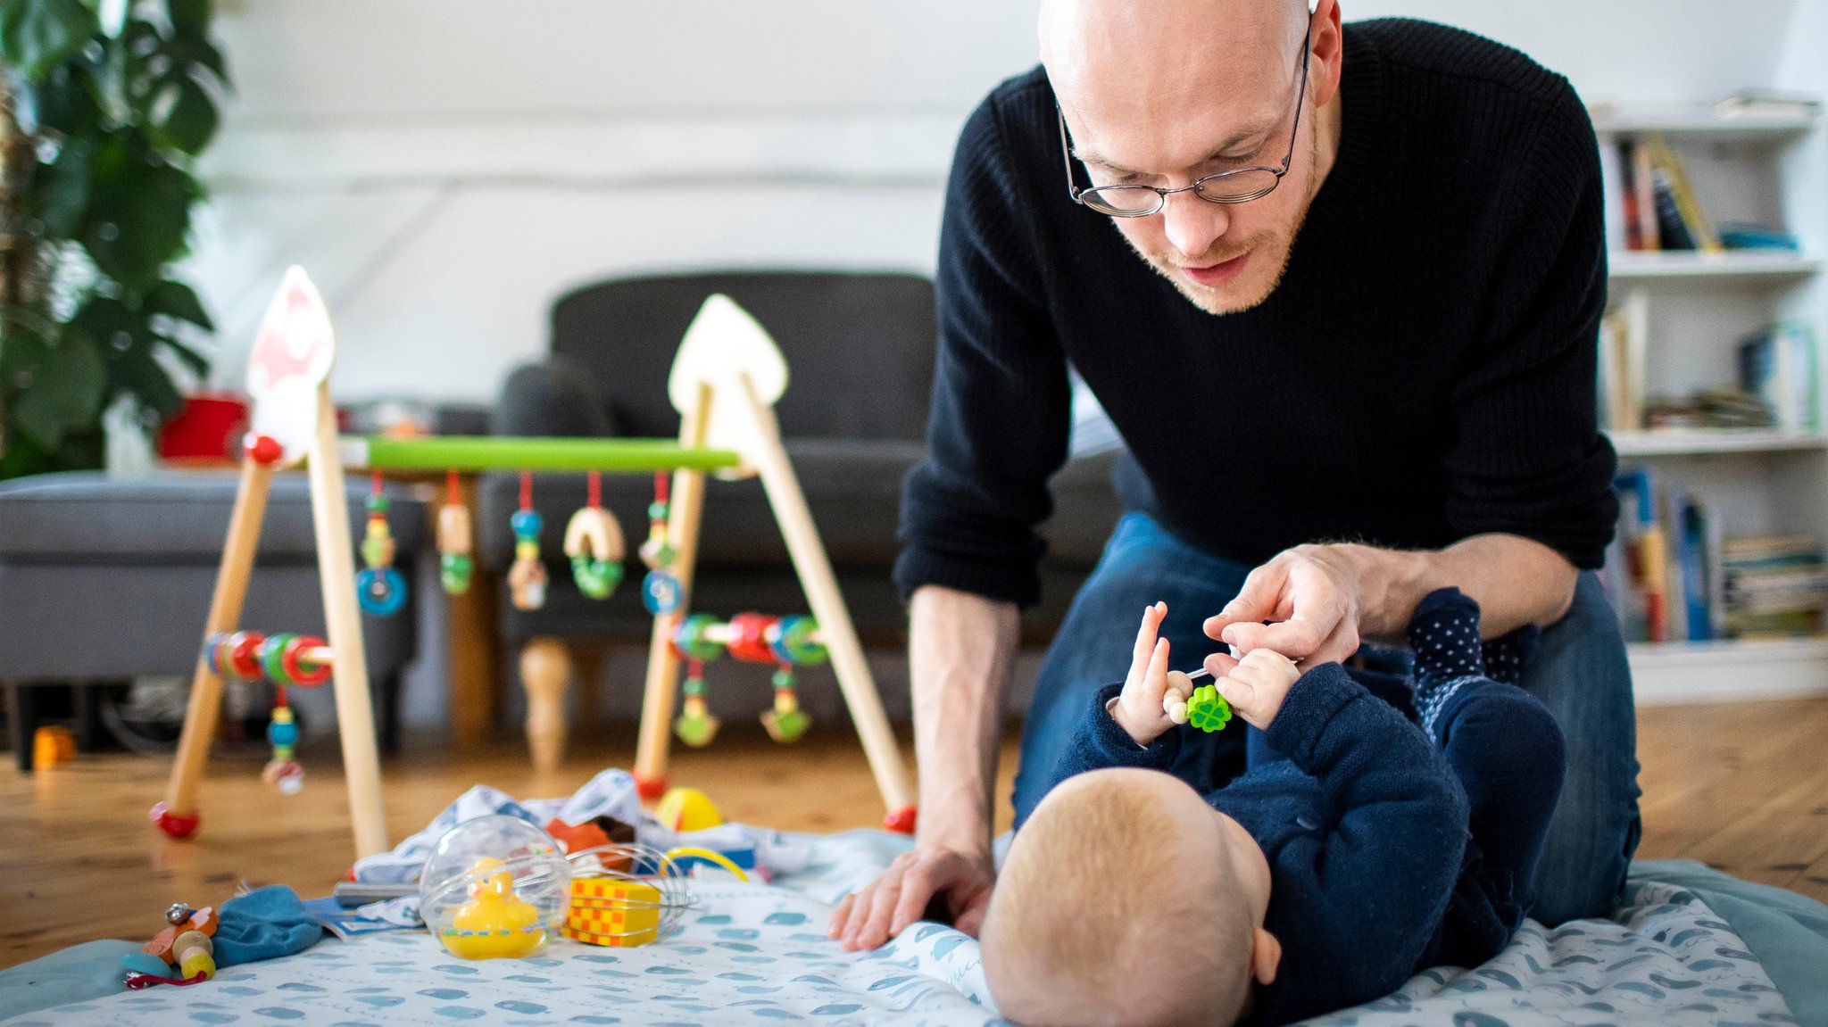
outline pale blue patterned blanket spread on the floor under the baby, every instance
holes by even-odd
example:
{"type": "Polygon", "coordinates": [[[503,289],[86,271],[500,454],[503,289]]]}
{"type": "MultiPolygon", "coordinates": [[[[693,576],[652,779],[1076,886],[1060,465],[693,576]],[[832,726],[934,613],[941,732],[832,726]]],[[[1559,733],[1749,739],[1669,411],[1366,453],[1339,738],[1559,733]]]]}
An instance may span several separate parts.
{"type": "MultiPolygon", "coordinates": [[[[79,947],[0,972],[0,1016],[42,1009],[26,1003],[53,992],[16,985],[57,969],[90,983],[69,983],[55,992],[62,1005],[24,1012],[5,1027],[994,1022],[976,941],[956,930],[916,925],[868,954],[843,952],[824,937],[832,903],[887,866],[907,839],[881,831],[786,839],[806,848],[801,872],[775,886],[696,883],[696,905],[680,930],[643,948],[558,941],[537,959],[466,963],[422,934],[369,936],[232,967],[205,985],[99,994],[93,981],[106,974],[75,972],[84,961],[79,947]]],[[[110,952],[95,956],[97,969],[112,965],[110,952]]],[[[1828,906],[1693,863],[1645,863],[1610,919],[1554,930],[1530,923],[1483,967],[1428,970],[1393,996],[1314,1023],[1828,1027],[1823,967],[1828,906]]]]}

